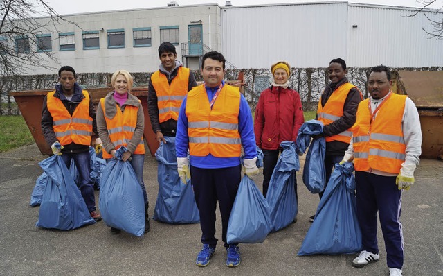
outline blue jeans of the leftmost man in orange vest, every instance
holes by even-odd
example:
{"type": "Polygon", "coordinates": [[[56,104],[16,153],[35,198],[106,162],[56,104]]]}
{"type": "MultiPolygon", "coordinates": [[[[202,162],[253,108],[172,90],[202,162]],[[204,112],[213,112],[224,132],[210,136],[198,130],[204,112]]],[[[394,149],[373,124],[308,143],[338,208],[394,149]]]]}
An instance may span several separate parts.
{"type": "Polygon", "coordinates": [[[96,197],[94,196],[94,184],[91,180],[91,157],[89,156],[89,151],[84,153],[63,153],[60,156],[68,169],[71,166],[71,159],[74,159],[75,166],[80,175],[78,187],[80,193],[82,193],[84,203],[86,203],[89,212],[95,211],[96,197]]]}

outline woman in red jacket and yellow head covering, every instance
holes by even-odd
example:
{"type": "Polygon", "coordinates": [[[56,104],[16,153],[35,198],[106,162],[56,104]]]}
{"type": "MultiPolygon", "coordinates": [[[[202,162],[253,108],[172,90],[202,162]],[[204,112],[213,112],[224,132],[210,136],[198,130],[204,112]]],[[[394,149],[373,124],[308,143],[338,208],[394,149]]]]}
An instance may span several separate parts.
{"type": "Polygon", "coordinates": [[[254,122],[255,143],[264,153],[263,195],[265,197],[278,155],[282,150],[280,143],[295,142],[298,129],[305,122],[300,94],[289,88],[291,67],[288,62],[279,61],[273,64],[271,72],[273,76],[271,87],[260,94],[254,122]]]}

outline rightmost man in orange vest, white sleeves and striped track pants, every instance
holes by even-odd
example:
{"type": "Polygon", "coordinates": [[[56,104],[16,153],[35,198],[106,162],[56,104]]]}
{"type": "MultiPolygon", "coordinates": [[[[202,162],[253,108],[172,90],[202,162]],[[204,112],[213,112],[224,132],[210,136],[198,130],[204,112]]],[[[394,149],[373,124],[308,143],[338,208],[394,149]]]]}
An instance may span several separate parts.
{"type": "Polygon", "coordinates": [[[379,260],[377,212],[386,247],[390,276],[401,276],[404,263],[400,223],[401,195],[414,184],[422,153],[422,130],[413,101],[390,91],[386,66],[373,67],[368,79],[370,98],[359,104],[352,142],[343,161],[355,166],[357,218],[363,251],[352,265],[379,260]]]}

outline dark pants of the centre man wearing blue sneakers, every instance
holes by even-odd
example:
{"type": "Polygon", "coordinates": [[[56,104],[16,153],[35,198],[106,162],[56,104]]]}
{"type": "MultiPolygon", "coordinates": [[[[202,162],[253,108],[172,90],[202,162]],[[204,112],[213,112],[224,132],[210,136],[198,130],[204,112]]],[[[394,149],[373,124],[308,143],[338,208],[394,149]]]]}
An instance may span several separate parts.
{"type": "Polygon", "coordinates": [[[229,216],[242,177],[242,166],[221,169],[201,169],[191,166],[190,172],[195,202],[200,213],[201,243],[211,247],[217,245],[215,210],[218,201],[223,228],[221,240],[224,241],[224,246],[228,247],[226,234],[228,233],[229,216]]]}

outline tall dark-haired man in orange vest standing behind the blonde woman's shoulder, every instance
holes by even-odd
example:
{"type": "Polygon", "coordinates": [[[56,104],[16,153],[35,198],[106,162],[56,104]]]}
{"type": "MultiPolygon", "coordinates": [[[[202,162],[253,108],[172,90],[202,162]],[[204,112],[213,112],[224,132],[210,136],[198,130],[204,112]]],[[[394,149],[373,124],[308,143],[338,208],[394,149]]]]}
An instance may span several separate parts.
{"type": "Polygon", "coordinates": [[[174,137],[177,132],[181,101],[197,83],[190,70],[176,60],[177,51],[170,42],[160,44],[159,58],[159,71],[152,74],[149,82],[147,111],[156,140],[165,143],[164,136],[174,137]]]}

